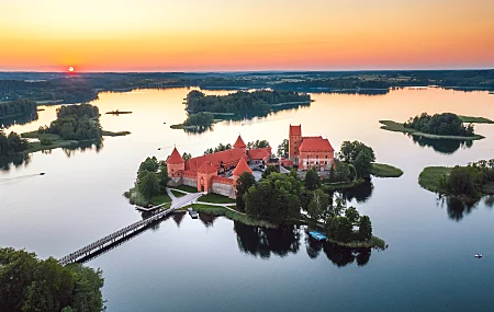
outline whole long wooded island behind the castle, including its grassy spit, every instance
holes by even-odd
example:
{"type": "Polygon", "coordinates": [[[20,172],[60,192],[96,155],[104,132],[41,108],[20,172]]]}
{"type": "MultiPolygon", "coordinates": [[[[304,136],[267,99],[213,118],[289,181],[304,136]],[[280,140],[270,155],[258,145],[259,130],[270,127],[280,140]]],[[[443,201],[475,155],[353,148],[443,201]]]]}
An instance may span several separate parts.
{"type": "Polygon", "coordinates": [[[272,111],[310,105],[311,102],[311,95],[293,91],[257,90],[237,91],[227,95],[205,95],[193,90],[184,99],[189,114],[187,120],[170,128],[201,131],[225,118],[261,117],[272,111]]]}

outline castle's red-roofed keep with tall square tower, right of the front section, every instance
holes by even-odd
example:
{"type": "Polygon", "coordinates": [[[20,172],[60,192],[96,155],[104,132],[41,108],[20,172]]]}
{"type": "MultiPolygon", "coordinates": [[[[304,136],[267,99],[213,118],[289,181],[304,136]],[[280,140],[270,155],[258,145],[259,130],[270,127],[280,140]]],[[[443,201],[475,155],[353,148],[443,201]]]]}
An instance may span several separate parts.
{"type": "Polygon", "coordinates": [[[289,159],[299,171],[315,167],[327,171],[335,162],[335,149],[328,139],[323,137],[302,137],[302,126],[290,125],[289,159]]]}

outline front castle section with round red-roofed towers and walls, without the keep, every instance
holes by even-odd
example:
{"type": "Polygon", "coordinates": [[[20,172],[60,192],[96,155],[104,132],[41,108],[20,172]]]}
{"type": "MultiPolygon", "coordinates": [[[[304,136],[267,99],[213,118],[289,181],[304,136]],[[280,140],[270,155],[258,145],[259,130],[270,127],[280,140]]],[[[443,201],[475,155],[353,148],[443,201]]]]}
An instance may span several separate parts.
{"type": "Polygon", "coordinates": [[[168,176],[171,177],[169,185],[188,185],[197,187],[198,192],[235,198],[238,177],[244,172],[252,173],[247,163],[266,165],[270,157],[271,147],[247,149],[240,136],[233,149],[191,158],[187,161],[175,148],[167,159],[168,176]]]}

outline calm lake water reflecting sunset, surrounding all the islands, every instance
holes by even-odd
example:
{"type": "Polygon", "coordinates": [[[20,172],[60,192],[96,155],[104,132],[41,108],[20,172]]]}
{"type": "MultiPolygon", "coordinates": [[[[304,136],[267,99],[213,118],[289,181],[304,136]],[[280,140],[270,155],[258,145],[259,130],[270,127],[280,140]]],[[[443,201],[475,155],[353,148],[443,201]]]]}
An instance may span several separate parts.
{"type": "MultiPolygon", "coordinates": [[[[105,138],[99,149],[35,153],[0,171],[0,245],[64,256],[142,218],[122,193],[146,157],[165,159],[173,145],[181,153],[201,154],[233,143],[238,134],[246,142],[267,139],[277,147],[290,124],[302,124],[305,135],[327,137],[335,148],[361,140],[378,161],[404,170],[397,180],[373,178],[351,201],[371,217],[389,250],[353,255],[310,245],[297,229],[267,231],[224,218],[176,216],[88,263],[103,269],[106,311],[492,311],[492,198],[467,210],[448,207],[422,189],[417,177],[427,165],[494,158],[494,126],[476,126],[486,139],[471,147],[434,146],[380,130],[378,120],[422,112],[494,119],[493,95],[439,89],[313,94],[316,101],[306,108],[188,135],[169,128],[186,118],[181,102],[188,92],[100,94],[94,104],[101,113],[134,112],[102,115],[103,128],[131,136],[105,138]],[[476,252],[485,257],[475,259],[476,252]]],[[[55,118],[55,109],[48,106],[38,120],[10,129],[37,129],[55,118]]]]}

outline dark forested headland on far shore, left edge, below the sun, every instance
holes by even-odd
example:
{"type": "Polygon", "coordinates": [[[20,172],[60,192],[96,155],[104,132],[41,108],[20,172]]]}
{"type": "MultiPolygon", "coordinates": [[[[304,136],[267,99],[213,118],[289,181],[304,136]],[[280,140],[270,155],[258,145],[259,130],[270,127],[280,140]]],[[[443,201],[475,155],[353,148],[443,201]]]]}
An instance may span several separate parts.
{"type": "Polygon", "coordinates": [[[55,79],[47,81],[0,80],[0,101],[29,99],[81,103],[98,99],[98,93],[85,80],[55,79]]]}

